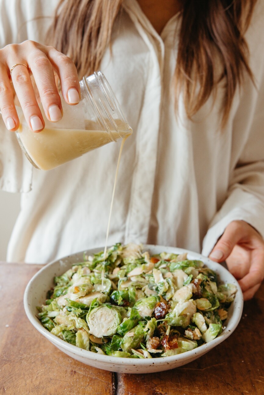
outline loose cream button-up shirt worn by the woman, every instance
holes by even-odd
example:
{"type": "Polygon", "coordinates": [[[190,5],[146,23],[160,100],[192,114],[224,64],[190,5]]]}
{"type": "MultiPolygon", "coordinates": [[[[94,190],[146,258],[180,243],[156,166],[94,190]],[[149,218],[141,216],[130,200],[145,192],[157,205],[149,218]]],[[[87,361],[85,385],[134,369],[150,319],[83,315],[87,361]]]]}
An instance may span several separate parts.
{"type": "MultiPolygon", "coordinates": [[[[44,42],[57,0],[0,0],[0,47],[44,42]],[[36,19],[37,17],[37,19],[36,19]],[[41,18],[40,18],[41,17],[41,18]]],[[[208,255],[233,220],[264,235],[264,2],[247,31],[256,87],[245,76],[220,130],[224,81],[192,121],[172,76],[180,14],[159,36],[125,0],[101,70],[133,135],[121,159],[108,244],[178,246],[208,255]]],[[[9,261],[45,263],[104,246],[120,141],[50,171],[33,168],[0,120],[0,187],[21,192],[9,261]]],[[[4,209],[3,207],[1,208],[4,209]]]]}

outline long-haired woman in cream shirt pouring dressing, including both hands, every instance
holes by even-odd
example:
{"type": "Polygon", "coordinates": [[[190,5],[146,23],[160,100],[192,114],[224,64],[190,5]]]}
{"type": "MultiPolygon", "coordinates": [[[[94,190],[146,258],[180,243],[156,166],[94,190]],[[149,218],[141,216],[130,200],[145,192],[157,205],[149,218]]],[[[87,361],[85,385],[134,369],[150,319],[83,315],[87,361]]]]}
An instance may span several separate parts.
{"type": "MultiPolygon", "coordinates": [[[[264,277],[263,2],[2,0],[0,9],[6,128],[19,126],[13,90],[32,131],[44,128],[31,73],[56,122],[54,72],[74,105],[78,79],[100,68],[134,131],[109,244],[202,250],[226,260],[253,297],[264,277]]],[[[21,192],[8,260],[42,263],[103,246],[118,145],[40,172],[1,126],[2,188],[21,192]]]]}

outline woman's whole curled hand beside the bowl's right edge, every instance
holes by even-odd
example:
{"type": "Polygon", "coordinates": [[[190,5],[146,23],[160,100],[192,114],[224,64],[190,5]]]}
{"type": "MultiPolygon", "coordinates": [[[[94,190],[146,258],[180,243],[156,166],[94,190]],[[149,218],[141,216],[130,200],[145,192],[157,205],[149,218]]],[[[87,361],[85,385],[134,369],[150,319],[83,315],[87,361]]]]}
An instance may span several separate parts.
{"type": "Polygon", "coordinates": [[[209,258],[226,261],[239,280],[244,300],[251,299],[264,279],[264,240],[245,221],[232,221],[211,251],[209,258]]]}

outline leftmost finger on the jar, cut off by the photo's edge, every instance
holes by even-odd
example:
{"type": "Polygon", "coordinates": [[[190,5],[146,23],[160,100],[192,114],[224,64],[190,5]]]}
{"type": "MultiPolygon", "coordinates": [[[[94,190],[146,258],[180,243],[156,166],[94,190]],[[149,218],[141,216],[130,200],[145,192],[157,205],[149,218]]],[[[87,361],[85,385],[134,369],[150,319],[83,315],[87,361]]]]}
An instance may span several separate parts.
{"type": "Polygon", "coordinates": [[[15,109],[13,90],[9,80],[8,72],[3,65],[0,65],[0,110],[2,118],[8,130],[17,130],[19,119],[15,109]]]}

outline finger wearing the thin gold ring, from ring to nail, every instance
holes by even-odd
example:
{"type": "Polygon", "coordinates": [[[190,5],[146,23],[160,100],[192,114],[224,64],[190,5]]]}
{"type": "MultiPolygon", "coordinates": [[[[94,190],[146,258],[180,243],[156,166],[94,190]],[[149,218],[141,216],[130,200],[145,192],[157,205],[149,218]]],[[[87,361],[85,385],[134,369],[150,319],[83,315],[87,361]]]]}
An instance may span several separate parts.
{"type": "MultiPolygon", "coordinates": [[[[25,60],[20,63],[26,64],[25,60]]],[[[13,69],[11,79],[29,128],[39,132],[44,128],[45,123],[36,101],[28,69],[19,64],[13,69]]]]}

